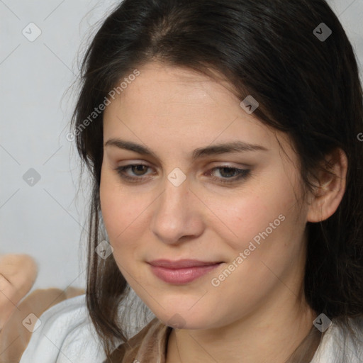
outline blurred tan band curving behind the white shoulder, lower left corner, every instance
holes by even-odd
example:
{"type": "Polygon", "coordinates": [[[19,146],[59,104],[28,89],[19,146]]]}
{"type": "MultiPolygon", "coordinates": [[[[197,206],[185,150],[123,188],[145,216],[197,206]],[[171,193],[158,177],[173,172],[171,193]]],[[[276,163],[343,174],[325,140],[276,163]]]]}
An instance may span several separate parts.
{"type": "Polygon", "coordinates": [[[0,363],[18,363],[28,345],[34,314],[37,318],[52,306],[67,298],[84,294],[83,289],[69,287],[60,289],[38,289],[29,294],[18,305],[13,315],[0,331],[0,363]],[[27,328],[29,327],[29,328],[27,328]]]}

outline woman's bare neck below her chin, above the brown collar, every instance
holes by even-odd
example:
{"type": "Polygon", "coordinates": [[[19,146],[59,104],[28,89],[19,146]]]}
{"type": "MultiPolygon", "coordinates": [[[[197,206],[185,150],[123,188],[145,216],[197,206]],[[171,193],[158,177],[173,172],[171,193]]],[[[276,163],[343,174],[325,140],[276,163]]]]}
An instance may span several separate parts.
{"type": "Polygon", "coordinates": [[[173,329],[167,363],[196,359],[199,363],[241,359],[244,363],[285,363],[311,331],[316,315],[303,296],[295,296],[284,286],[275,298],[233,324],[211,330],[173,329]]]}

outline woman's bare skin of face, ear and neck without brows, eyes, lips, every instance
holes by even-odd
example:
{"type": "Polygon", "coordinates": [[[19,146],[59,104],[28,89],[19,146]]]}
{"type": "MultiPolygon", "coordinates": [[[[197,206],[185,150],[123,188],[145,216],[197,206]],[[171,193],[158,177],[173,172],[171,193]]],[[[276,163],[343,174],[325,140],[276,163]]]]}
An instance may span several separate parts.
{"type": "Polygon", "coordinates": [[[298,156],[289,138],[240,107],[224,82],[188,69],[152,62],[111,101],[104,113],[104,143],[112,138],[149,147],[156,157],[114,145],[104,147],[101,210],[119,269],[136,294],[167,325],[179,314],[167,363],[285,362],[320,312],[303,296],[307,221],[331,216],[345,191],[347,158],[331,155],[333,172],[301,199],[298,156]],[[191,160],[194,149],[242,140],[268,151],[210,155],[191,160]],[[281,151],[279,142],[286,152],[281,151]],[[127,181],[115,170],[139,178],[127,181]],[[186,180],[167,176],[178,167],[186,180]],[[235,177],[225,169],[250,169],[235,177]],[[223,172],[224,170],[224,172],[223,172]],[[208,174],[211,173],[211,174],[208,174]],[[230,173],[230,174],[228,174],[230,173]],[[215,177],[216,179],[213,179],[215,177]],[[298,199],[298,200],[297,200],[298,199]],[[299,203],[298,203],[299,201],[299,203]],[[284,221],[219,286],[223,272],[279,215],[284,221]],[[168,284],[152,274],[154,259],[223,261],[189,284],[168,284]]]}

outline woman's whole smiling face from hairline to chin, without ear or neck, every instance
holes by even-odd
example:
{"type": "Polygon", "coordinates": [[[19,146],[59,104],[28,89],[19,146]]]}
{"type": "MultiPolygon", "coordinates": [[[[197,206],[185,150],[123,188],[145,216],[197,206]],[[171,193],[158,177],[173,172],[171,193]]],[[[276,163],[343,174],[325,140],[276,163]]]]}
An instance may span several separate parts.
{"type": "Polygon", "coordinates": [[[201,74],[157,63],[139,71],[104,112],[100,187],[128,284],[160,320],[186,329],[296,299],[308,205],[297,202],[289,140],[201,74]],[[220,147],[230,143],[255,146],[220,147]],[[130,165],[142,166],[121,169],[130,165]],[[173,271],[152,267],[157,259],[222,263],[173,271]]]}

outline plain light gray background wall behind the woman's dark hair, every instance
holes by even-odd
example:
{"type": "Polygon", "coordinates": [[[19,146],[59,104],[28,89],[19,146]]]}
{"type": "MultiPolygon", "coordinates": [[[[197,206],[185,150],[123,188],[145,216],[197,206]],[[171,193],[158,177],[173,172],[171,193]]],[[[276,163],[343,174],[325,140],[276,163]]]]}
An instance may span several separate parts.
{"type": "MultiPolygon", "coordinates": [[[[100,19],[118,2],[0,0],[0,253],[35,258],[32,291],[85,287],[89,188],[84,180],[78,191],[79,159],[66,138],[75,95],[69,86],[100,19]],[[42,32],[33,42],[22,33],[31,22],[42,32]],[[40,174],[33,186],[23,180],[30,168],[40,174]]],[[[362,69],[363,0],[329,4],[362,69]]]]}

